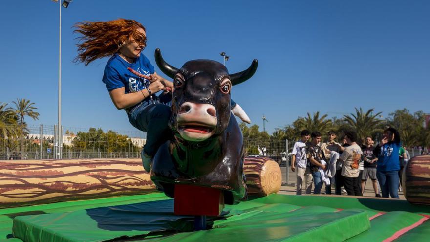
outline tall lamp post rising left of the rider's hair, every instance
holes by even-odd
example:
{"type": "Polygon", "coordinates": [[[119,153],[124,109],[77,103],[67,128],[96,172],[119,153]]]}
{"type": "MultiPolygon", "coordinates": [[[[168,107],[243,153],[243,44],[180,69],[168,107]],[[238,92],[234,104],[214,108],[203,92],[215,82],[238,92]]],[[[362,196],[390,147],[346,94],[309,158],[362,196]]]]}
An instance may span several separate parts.
{"type": "MultiPolygon", "coordinates": [[[[58,2],[58,0],[52,0],[58,2]]],[[[63,147],[63,133],[61,128],[61,7],[67,8],[73,0],[63,0],[59,8],[60,22],[59,22],[59,47],[58,47],[58,125],[57,125],[57,144],[55,149],[55,157],[57,159],[62,158],[62,147],[63,147]]]]}

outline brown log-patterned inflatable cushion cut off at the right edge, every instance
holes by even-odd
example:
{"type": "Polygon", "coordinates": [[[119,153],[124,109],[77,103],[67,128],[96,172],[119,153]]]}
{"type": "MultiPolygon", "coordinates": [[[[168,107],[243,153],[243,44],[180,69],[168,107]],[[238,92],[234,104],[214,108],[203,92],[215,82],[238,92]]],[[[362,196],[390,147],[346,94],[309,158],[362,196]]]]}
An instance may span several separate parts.
{"type": "Polygon", "coordinates": [[[430,155],[410,159],[402,176],[406,199],[410,203],[430,205],[430,155]]]}

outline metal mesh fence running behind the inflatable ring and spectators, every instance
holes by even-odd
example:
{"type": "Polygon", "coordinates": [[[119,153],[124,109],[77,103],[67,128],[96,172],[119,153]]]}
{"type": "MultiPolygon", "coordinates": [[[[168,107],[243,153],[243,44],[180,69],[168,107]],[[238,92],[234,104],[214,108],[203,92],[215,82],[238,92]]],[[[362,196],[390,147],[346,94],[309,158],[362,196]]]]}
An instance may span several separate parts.
{"type": "MultiPolygon", "coordinates": [[[[0,136],[0,160],[7,159],[54,159],[56,127],[54,125],[28,125],[22,136],[0,136]]],[[[63,127],[61,158],[140,158],[146,141],[141,131],[106,131],[96,128],[63,127]]],[[[282,184],[294,185],[291,172],[289,140],[244,139],[246,156],[266,156],[278,162],[282,172],[282,184]]],[[[420,148],[408,149],[410,157],[420,155],[420,148]]],[[[424,150],[427,154],[427,150],[424,150]]]]}

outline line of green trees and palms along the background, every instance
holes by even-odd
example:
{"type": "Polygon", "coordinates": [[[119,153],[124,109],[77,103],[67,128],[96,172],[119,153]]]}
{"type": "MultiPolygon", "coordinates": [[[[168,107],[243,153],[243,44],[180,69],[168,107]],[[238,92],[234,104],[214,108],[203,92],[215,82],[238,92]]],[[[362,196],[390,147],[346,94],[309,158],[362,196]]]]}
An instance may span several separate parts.
{"type": "MultiPolygon", "coordinates": [[[[20,146],[19,150],[23,152],[23,139],[29,132],[24,118],[28,116],[37,120],[39,113],[36,111],[35,103],[24,98],[17,98],[12,102],[12,107],[8,106],[8,103],[0,102],[0,141],[10,149],[16,150],[16,147],[20,146]]],[[[327,138],[327,132],[330,130],[341,134],[346,129],[352,129],[364,142],[366,136],[378,141],[383,130],[391,126],[400,132],[406,147],[430,147],[430,126],[428,128],[424,126],[426,115],[423,111],[411,113],[408,109],[395,110],[386,118],[383,118],[381,113],[375,112],[374,109],[365,111],[362,108],[355,108],[353,113],[331,119],[327,114],[321,115],[319,111],[307,113],[305,117],[298,117],[292,124],[278,128],[272,134],[260,132],[258,125],[248,127],[241,123],[239,126],[245,141],[258,140],[258,144],[247,146],[247,152],[252,154],[258,154],[261,147],[269,148],[272,153],[280,153],[282,148],[280,145],[275,147],[274,142],[286,139],[296,141],[300,139],[300,132],[304,129],[321,132],[323,139],[327,138]]],[[[75,150],[81,151],[97,148],[106,152],[117,152],[125,151],[130,146],[134,150],[138,149],[128,140],[127,135],[113,131],[103,132],[95,128],[90,128],[88,132],[78,132],[73,145],[75,150]]]]}

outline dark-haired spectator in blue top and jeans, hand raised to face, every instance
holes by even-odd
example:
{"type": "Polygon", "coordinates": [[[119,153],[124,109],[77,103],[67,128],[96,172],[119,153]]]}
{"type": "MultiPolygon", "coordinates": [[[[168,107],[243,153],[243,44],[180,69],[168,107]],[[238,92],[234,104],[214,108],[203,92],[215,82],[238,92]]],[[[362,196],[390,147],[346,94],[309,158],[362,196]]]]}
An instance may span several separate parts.
{"type": "Polygon", "coordinates": [[[373,150],[373,154],[378,157],[376,163],[376,177],[382,190],[382,197],[399,198],[399,149],[400,134],[399,132],[389,127],[384,130],[384,136],[379,142],[379,145],[373,150]]]}

